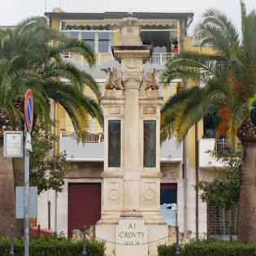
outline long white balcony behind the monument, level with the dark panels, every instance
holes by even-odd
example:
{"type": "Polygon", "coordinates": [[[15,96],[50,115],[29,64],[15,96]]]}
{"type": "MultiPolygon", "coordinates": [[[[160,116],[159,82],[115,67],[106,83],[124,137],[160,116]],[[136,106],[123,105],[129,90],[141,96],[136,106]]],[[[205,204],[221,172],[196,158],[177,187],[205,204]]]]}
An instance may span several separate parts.
{"type": "MultiPolygon", "coordinates": [[[[71,162],[103,162],[104,136],[102,133],[89,134],[85,142],[78,142],[72,135],[60,136],[60,151],[66,152],[67,161],[71,162]]],[[[182,161],[182,145],[174,138],[163,142],[161,147],[161,162],[177,163],[182,161]]]]}

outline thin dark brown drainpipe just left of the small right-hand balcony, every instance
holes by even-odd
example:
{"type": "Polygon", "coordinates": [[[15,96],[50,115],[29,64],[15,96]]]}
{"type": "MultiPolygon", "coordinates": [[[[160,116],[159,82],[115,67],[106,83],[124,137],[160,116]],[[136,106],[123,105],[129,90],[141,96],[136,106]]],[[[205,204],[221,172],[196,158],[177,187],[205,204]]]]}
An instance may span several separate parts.
{"type": "Polygon", "coordinates": [[[196,239],[199,239],[199,209],[198,209],[198,180],[199,180],[199,163],[198,163],[198,124],[195,124],[195,165],[196,165],[196,239]]]}

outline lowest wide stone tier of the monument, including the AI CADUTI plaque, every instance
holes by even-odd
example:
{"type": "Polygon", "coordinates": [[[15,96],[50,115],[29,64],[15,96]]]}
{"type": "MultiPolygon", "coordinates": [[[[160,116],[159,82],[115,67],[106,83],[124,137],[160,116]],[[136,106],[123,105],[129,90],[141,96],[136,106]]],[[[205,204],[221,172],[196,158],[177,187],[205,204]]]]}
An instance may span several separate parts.
{"type": "Polygon", "coordinates": [[[146,223],[141,216],[123,216],[116,223],[99,222],[98,240],[105,241],[106,256],[158,256],[158,245],[167,244],[167,223],[146,223]]]}

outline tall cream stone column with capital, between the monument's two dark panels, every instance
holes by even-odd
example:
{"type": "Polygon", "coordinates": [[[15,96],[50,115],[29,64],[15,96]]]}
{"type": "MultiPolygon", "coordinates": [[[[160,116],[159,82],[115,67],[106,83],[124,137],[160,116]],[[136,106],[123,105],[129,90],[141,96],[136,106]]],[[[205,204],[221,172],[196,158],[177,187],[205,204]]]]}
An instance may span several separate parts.
{"type": "Polygon", "coordinates": [[[140,210],[140,116],[139,86],[142,80],[142,60],[122,61],[124,84],[124,210],[131,215],[140,210]],[[130,68],[132,71],[128,71],[130,68]]]}

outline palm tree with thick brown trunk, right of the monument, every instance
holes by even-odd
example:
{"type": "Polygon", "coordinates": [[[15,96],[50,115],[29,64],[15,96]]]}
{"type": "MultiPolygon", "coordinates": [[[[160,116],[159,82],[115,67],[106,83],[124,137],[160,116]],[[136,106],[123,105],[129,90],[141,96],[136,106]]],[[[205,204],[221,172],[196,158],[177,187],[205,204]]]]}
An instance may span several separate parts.
{"type": "Polygon", "coordinates": [[[246,13],[241,1],[242,31],[228,17],[210,9],[203,15],[196,33],[202,46],[215,46],[215,54],[183,52],[167,63],[163,82],[177,77],[195,80],[198,86],[184,89],[170,98],[162,110],[162,139],[175,134],[182,141],[194,124],[217,110],[217,137],[227,135],[229,145],[239,137],[244,150],[241,184],[239,238],[256,242],[256,187],[254,157],[256,128],[250,113],[256,93],[256,11],[246,13]]]}

